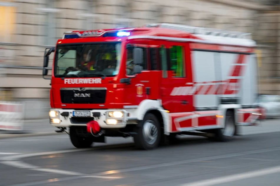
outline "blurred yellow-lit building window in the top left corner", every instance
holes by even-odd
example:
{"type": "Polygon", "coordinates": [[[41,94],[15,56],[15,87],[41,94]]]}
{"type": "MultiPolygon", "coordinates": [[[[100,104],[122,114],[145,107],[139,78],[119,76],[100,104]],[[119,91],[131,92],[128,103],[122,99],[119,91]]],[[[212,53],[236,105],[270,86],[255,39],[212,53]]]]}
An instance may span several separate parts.
{"type": "Polygon", "coordinates": [[[0,0],[0,43],[12,43],[16,23],[16,4],[0,0]]]}

